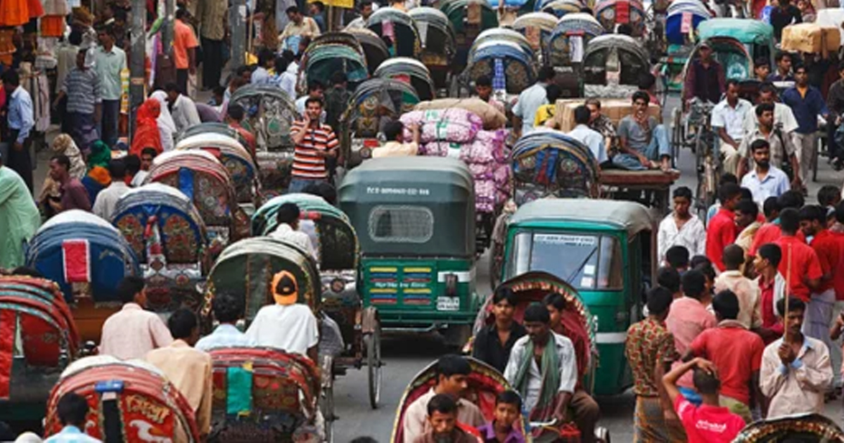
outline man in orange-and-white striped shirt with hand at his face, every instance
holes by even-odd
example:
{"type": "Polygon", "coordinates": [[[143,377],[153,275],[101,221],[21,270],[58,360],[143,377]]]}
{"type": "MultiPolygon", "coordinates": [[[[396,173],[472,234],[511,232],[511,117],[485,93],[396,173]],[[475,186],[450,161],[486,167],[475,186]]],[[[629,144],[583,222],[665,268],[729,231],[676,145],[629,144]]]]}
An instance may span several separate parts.
{"type": "Polygon", "coordinates": [[[297,120],[290,130],[296,149],[289,192],[302,192],[308,185],[328,181],[326,159],[337,158],[337,137],[330,126],[320,123],[322,100],[311,97],[305,108],[304,119],[297,120]]]}

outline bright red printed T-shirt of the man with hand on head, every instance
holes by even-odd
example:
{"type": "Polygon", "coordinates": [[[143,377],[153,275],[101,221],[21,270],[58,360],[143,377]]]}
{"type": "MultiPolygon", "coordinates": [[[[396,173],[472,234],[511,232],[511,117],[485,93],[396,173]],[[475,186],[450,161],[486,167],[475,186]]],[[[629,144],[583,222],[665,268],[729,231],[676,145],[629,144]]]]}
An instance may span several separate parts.
{"type": "Polygon", "coordinates": [[[682,395],[674,399],[674,410],[689,438],[689,443],[730,443],[744,428],[744,419],[728,408],[701,404],[695,408],[682,395]]]}

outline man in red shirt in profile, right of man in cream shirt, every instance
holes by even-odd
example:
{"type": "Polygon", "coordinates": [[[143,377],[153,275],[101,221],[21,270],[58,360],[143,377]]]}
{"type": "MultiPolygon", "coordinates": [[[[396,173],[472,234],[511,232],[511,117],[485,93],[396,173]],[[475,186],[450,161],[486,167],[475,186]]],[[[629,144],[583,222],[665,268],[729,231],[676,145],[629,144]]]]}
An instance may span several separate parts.
{"type": "Polygon", "coordinates": [[[756,251],[753,264],[756,275],[755,283],[759,285],[759,306],[762,316],[762,327],[759,335],[765,344],[771,344],[782,337],[784,331],[782,321],[776,316],[774,306],[776,301],[785,298],[786,278],[777,269],[782,262],[782,249],[774,243],[762,245],[756,251]]]}

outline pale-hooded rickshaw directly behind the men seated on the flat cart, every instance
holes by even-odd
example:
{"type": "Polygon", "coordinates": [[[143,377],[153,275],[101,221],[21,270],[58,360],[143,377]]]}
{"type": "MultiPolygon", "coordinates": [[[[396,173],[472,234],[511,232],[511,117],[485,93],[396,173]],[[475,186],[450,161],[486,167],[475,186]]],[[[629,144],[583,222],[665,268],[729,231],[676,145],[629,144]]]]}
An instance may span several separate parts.
{"type": "Polygon", "coordinates": [[[639,76],[651,67],[645,46],[633,37],[598,35],[583,54],[583,94],[586,97],[628,99],[639,76]]]}

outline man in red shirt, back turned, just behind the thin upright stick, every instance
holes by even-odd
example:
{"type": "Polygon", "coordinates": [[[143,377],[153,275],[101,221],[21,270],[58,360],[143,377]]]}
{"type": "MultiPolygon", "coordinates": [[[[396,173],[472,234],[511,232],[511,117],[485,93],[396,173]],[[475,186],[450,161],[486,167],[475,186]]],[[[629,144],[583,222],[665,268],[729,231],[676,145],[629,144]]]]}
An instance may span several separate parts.
{"type": "Polygon", "coordinates": [[[787,278],[791,294],[803,300],[803,303],[808,303],[812,291],[820,288],[820,278],[823,276],[823,271],[820,268],[818,255],[809,245],[795,236],[799,228],[800,216],[797,210],[793,208],[783,209],[780,213],[782,237],[774,243],[780,246],[782,250],[782,262],[780,262],[779,270],[787,278]],[[789,266],[789,262],[791,262],[791,266],[789,266]],[[789,269],[791,269],[791,275],[788,274],[789,269]]]}

